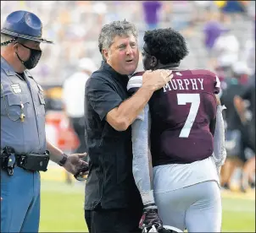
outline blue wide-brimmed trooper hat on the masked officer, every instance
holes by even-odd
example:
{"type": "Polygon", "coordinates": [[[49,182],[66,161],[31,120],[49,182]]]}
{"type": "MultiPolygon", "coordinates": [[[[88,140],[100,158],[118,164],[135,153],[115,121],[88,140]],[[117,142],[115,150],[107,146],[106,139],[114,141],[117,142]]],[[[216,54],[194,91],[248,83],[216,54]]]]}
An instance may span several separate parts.
{"type": "Polygon", "coordinates": [[[14,11],[8,15],[3,23],[1,34],[14,37],[14,39],[10,41],[1,43],[1,46],[7,45],[18,38],[48,44],[53,43],[53,41],[47,41],[42,38],[42,22],[36,14],[24,10],[14,11]]]}

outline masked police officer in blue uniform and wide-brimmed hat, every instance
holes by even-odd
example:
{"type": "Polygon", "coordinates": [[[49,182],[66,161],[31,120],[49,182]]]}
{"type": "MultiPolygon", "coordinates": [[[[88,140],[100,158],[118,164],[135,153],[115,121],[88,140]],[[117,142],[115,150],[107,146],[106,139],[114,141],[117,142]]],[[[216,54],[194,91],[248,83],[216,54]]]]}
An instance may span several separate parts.
{"type": "Polygon", "coordinates": [[[64,154],[47,141],[43,90],[28,69],[42,55],[42,22],[15,11],[1,29],[1,232],[37,232],[40,174],[48,160],[75,174],[85,154],[64,154]],[[49,152],[49,153],[48,153],[49,152]]]}

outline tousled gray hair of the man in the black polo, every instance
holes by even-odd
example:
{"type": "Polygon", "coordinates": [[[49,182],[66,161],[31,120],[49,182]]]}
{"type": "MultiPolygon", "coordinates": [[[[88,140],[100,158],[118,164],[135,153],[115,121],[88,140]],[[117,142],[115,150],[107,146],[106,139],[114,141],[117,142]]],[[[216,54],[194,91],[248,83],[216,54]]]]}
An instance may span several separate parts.
{"type": "MultiPolygon", "coordinates": [[[[138,37],[135,24],[131,24],[128,21],[113,21],[110,24],[104,25],[98,37],[98,49],[102,56],[103,49],[109,49],[116,35],[134,35],[136,40],[138,37]]],[[[104,56],[103,60],[106,60],[104,56]]]]}

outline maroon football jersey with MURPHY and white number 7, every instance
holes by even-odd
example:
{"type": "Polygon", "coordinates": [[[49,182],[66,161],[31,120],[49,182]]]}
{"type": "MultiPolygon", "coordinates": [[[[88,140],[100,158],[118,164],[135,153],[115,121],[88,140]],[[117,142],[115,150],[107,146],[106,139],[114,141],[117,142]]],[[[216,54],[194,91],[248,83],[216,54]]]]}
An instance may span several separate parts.
{"type": "Polygon", "coordinates": [[[203,160],[214,149],[209,123],[216,117],[220,80],[203,69],[173,74],[149,101],[153,166],[203,160]]]}

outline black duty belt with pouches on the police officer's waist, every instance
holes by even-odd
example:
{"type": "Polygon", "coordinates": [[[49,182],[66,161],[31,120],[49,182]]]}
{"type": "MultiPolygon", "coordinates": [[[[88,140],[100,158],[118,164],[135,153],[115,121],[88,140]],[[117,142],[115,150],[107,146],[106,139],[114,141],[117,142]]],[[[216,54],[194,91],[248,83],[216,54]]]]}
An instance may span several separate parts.
{"type": "Polygon", "coordinates": [[[19,166],[27,171],[47,171],[49,152],[45,154],[15,154],[12,147],[1,149],[0,165],[9,176],[14,175],[14,166],[19,166]]]}

